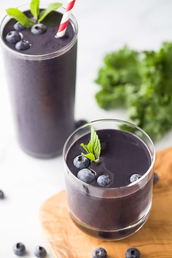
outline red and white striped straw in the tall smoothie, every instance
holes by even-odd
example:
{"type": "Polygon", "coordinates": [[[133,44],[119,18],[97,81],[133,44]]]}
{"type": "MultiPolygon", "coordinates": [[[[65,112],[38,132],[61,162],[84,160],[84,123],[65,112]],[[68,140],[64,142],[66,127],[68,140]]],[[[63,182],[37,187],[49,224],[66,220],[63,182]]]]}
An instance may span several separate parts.
{"type": "Polygon", "coordinates": [[[64,36],[64,34],[66,32],[66,29],[67,29],[67,26],[68,26],[68,22],[69,22],[69,19],[70,19],[70,15],[71,15],[73,6],[75,4],[75,1],[76,0],[68,0],[65,12],[64,12],[62,20],[60,22],[58,32],[56,34],[57,37],[63,37],[64,36]]]}

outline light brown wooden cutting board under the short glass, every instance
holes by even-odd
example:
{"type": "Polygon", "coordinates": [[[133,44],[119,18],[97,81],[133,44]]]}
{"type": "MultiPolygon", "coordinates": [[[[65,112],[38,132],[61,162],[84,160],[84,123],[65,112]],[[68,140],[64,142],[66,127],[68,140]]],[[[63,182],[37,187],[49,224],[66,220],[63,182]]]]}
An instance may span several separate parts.
{"type": "Polygon", "coordinates": [[[136,247],[141,258],[172,258],[172,147],[157,153],[155,172],[159,181],[153,187],[152,210],[148,221],[134,235],[119,241],[103,241],[86,235],[71,221],[65,191],[52,196],[40,207],[44,235],[55,258],[91,258],[103,247],[108,258],[125,258],[136,247]]]}

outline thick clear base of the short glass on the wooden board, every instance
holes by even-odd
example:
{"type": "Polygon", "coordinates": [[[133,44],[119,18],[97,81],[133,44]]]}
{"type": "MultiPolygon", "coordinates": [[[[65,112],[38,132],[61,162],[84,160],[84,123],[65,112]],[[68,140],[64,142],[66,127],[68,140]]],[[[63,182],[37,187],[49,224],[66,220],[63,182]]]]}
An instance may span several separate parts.
{"type": "Polygon", "coordinates": [[[120,240],[120,239],[129,237],[133,235],[135,232],[137,232],[148,220],[150,210],[151,210],[151,205],[146,211],[146,213],[144,214],[144,216],[139,221],[137,221],[133,225],[130,225],[126,228],[121,228],[116,230],[101,230],[101,229],[90,227],[84,224],[83,222],[81,222],[80,220],[78,220],[70,211],[69,211],[69,214],[72,221],[75,223],[75,225],[84,233],[99,239],[114,241],[114,240],[120,240]]]}

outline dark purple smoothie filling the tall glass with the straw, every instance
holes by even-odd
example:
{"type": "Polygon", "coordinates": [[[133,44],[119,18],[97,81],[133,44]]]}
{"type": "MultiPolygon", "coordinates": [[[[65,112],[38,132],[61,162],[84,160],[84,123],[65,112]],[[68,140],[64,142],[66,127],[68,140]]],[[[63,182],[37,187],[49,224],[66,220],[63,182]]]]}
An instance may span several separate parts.
{"type": "MultiPolygon", "coordinates": [[[[32,17],[30,11],[25,14],[32,17]]],[[[55,38],[61,18],[60,12],[48,14],[42,21],[47,31],[41,35],[32,34],[29,28],[21,31],[22,39],[30,43],[24,51],[16,51],[15,44],[5,39],[14,30],[14,19],[2,32],[8,46],[3,43],[4,65],[19,143],[40,158],[61,155],[74,128],[76,28],[69,21],[65,36],[55,38]]]]}

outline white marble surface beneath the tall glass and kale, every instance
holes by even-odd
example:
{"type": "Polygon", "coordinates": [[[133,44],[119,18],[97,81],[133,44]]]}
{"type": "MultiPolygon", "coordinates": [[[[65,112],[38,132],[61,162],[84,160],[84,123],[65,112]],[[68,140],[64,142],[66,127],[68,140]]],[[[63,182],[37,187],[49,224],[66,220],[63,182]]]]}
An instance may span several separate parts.
{"type": "MultiPolygon", "coordinates": [[[[62,2],[65,6],[67,0],[62,2]]],[[[6,8],[22,3],[23,0],[16,0],[15,3],[13,0],[1,1],[0,18],[3,18],[6,8]]],[[[104,111],[97,106],[94,94],[98,86],[93,79],[103,55],[122,47],[124,43],[142,50],[155,49],[162,41],[171,41],[171,10],[171,0],[76,1],[73,13],[79,23],[77,119],[126,119],[123,110],[104,111]],[[89,105],[82,105],[81,109],[83,99],[88,99],[89,105]]],[[[35,159],[19,148],[14,134],[2,55],[0,78],[0,189],[6,196],[0,201],[0,257],[16,257],[12,253],[12,245],[21,241],[26,245],[26,257],[29,258],[34,257],[36,245],[43,245],[48,252],[40,232],[38,210],[45,199],[64,189],[63,161],[62,157],[35,159]]],[[[171,144],[172,132],[169,132],[155,147],[160,150],[171,144]]],[[[48,257],[52,257],[51,254],[48,257]]]]}

